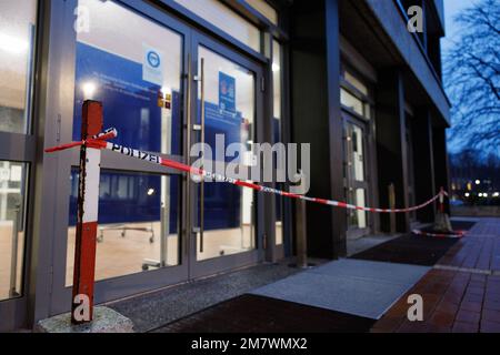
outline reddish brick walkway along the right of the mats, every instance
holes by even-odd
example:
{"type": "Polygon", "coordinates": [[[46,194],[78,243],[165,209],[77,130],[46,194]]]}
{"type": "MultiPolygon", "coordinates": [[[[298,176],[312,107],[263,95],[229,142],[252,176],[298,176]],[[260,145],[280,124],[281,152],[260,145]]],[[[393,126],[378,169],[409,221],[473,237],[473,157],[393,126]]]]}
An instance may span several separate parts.
{"type": "Polygon", "coordinates": [[[371,332],[500,332],[500,219],[481,219],[371,332]],[[423,322],[407,318],[410,294],[423,322]]]}

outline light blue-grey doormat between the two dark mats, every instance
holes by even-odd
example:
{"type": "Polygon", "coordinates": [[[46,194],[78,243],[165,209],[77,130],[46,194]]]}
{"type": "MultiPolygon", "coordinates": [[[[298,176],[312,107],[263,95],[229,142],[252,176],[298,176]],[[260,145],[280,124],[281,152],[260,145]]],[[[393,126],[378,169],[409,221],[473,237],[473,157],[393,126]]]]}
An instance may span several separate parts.
{"type": "Polygon", "coordinates": [[[424,266],[344,258],[251,293],[378,320],[428,271],[424,266]]]}

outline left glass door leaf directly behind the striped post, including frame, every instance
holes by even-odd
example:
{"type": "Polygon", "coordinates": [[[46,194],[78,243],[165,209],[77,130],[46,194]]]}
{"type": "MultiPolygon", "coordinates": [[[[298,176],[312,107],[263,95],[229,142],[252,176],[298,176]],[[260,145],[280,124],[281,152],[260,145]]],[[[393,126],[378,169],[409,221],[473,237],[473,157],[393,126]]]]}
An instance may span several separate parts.
{"type": "MultiPolygon", "coordinates": [[[[173,19],[152,21],[114,1],[78,4],[91,26],[71,32],[74,65],[64,67],[62,77],[74,78],[73,100],[61,111],[67,114],[60,141],[80,140],[82,104],[96,100],[103,126],[118,130],[114,143],[183,161],[190,29],[173,19]]],[[[51,304],[57,314],[68,311],[73,284],[79,151],[50,158],[58,162],[60,204],[51,304]]],[[[186,281],[182,173],[108,151],[100,166],[96,303],[186,281]]]]}

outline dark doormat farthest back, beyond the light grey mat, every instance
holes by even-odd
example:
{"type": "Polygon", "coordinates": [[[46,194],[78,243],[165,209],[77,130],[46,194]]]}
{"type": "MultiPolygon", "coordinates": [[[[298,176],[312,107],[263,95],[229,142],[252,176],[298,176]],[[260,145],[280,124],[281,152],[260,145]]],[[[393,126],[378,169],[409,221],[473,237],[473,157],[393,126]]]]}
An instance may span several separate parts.
{"type": "Polygon", "coordinates": [[[406,234],[354,254],[350,258],[433,266],[458,241],[458,239],[406,234]]]}

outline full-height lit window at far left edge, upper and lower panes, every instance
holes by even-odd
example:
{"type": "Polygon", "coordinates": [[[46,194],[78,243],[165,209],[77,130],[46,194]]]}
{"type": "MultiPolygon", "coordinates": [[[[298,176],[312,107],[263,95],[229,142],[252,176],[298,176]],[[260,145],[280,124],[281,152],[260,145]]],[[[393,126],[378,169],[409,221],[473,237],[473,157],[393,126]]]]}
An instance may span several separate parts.
{"type": "Polygon", "coordinates": [[[36,20],[36,0],[0,1],[0,301],[23,294],[36,20]]]}

